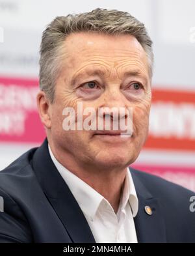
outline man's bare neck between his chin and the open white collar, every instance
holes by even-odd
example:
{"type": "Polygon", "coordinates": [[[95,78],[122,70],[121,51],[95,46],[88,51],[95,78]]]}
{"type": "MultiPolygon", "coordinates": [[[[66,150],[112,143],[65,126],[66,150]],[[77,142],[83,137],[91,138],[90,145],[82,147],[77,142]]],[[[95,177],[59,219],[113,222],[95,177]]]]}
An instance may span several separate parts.
{"type": "Polygon", "coordinates": [[[77,160],[70,159],[69,156],[65,157],[65,153],[63,155],[59,154],[50,143],[49,146],[60,164],[107,199],[115,213],[118,211],[127,167],[102,168],[101,166],[101,168],[97,168],[97,164],[83,165],[77,160]]]}

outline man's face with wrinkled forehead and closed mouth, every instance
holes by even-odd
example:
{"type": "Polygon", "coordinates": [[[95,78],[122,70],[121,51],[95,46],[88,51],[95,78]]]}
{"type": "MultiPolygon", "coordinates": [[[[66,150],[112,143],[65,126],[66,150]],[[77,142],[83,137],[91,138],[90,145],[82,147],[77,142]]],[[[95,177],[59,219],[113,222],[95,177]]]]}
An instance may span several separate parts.
{"type": "Polygon", "coordinates": [[[62,72],[51,104],[51,130],[55,147],[78,164],[125,167],[134,162],[148,134],[151,85],[148,59],[131,35],[75,33],[64,42],[62,72]],[[131,107],[133,135],[99,134],[97,130],[62,128],[64,107],[131,107]],[[66,154],[65,154],[66,153],[66,154]]]}

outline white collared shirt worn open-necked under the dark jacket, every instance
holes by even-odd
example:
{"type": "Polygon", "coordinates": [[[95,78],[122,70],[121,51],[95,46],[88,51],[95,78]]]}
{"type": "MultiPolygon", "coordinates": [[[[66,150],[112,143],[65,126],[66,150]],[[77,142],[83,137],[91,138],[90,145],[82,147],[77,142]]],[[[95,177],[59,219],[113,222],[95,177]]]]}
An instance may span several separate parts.
{"type": "Polygon", "coordinates": [[[96,242],[136,243],[133,218],[138,212],[138,198],[129,169],[123,184],[118,212],[115,214],[109,201],[60,164],[50,147],[49,154],[83,211],[96,242]]]}

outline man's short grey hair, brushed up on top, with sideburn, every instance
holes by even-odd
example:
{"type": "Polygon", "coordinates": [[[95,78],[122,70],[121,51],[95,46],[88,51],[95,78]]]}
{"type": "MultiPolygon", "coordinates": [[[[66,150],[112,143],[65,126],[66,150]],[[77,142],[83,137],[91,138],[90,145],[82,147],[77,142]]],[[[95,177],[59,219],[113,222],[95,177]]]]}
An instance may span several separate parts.
{"type": "Polygon", "coordinates": [[[152,41],[144,24],[128,12],[96,8],[91,12],[57,16],[47,25],[40,46],[40,89],[45,92],[51,103],[54,100],[55,83],[62,69],[60,55],[64,40],[71,33],[85,31],[135,36],[148,56],[149,73],[152,76],[152,41]]]}

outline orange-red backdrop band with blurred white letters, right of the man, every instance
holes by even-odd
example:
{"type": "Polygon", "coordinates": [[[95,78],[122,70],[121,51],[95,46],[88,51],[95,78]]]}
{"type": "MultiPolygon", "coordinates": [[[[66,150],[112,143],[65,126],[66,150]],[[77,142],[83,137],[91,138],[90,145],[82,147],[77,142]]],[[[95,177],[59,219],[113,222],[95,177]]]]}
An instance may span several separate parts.
{"type": "Polygon", "coordinates": [[[151,126],[144,148],[195,150],[195,91],[153,89],[151,106],[151,114],[154,115],[151,115],[151,126]],[[153,132],[155,119],[159,122],[159,127],[155,128],[156,134],[156,130],[153,132]],[[178,135],[177,130],[181,126],[183,132],[178,132],[178,135]]]}

